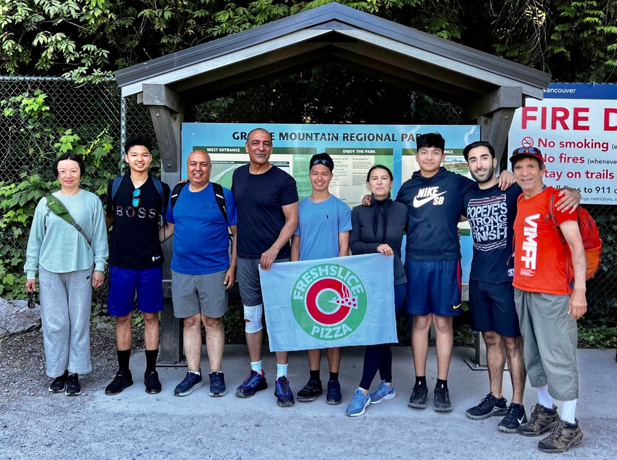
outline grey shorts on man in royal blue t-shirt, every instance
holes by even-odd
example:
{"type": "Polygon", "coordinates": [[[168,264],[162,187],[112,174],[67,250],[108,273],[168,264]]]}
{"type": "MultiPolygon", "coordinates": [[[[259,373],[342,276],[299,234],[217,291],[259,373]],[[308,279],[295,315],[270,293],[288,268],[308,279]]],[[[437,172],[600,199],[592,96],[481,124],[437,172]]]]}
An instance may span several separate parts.
{"type": "Polygon", "coordinates": [[[184,275],[172,270],[173,315],[188,318],[201,313],[210,318],[220,318],[227,312],[225,273],[227,270],[207,275],[184,275]]]}

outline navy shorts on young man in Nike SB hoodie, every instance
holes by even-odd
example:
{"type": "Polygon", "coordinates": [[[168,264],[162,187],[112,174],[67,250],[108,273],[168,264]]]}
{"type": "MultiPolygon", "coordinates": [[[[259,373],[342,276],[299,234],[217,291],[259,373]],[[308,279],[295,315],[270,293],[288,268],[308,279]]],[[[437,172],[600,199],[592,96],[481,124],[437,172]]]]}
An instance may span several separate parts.
{"type": "Polygon", "coordinates": [[[460,260],[405,261],[410,315],[455,317],[461,314],[460,260]]]}

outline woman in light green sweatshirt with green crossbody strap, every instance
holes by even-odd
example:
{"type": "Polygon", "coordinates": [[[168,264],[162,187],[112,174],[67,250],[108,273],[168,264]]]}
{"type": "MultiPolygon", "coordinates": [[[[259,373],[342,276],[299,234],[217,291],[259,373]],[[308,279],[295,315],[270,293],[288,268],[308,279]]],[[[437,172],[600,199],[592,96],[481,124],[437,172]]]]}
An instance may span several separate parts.
{"type": "Polygon", "coordinates": [[[46,371],[54,379],[49,391],[73,396],[81,393],[78,374],[92,370],[92,289],[103,283],[109,250],[101,200],[80,188],[83,159],[65,153],[53,170],[60,190],[52,193],[49,204],[52,200],[64,204],[81,231],[49,208],[48,197],[41,198],[30,228],[24,272],[29,293],[36,291],[38,270],[46,371]]]}

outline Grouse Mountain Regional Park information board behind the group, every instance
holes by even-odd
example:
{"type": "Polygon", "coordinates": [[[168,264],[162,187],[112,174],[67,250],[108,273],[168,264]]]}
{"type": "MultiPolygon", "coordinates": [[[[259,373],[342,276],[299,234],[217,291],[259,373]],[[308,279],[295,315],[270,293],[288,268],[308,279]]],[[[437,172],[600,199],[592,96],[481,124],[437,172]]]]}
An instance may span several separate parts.
{"type": "MultiPolygon", "coordinates": [[[[480,139],[477,125],[371,125],[371,124],[255,124],[183,123],[182,177],[186,178],[186,158],[201,149],[212,161],[210,180],[231,188],[231,177],[239,166],[249,163],[244,150],[247,134],[263,127],[272,134],[270,163],[287,171],[296,179],[300,200],[311,193],[309,160],[315,153],[326,152],[334,160],[334,177],[330,192],[350,207],[362,202],[366,195],[366,173],[373,164],[384,164],[392,170],[396,196],[400,185],[420,169],[416,163],[416,135],[439,132],[445,139],[443,166],[471,177],[463,148],[480,139]]],[[[469,280],[471,268],[471,236],[462,224],[463,281],[469,280]]]]}

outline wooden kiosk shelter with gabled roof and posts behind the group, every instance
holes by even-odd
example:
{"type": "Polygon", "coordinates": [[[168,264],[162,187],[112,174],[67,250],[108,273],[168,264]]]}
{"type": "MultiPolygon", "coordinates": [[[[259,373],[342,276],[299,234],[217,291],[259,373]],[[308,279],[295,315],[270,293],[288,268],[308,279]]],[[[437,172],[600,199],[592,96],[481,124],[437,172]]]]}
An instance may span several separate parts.
{"type": "MultiPolygon", "coordinates": [[[[542,99],[550,75],[416,29],[331,3],[115,73],[122,97],[147,105],[162,159],[162,180],[176,184],[181,124],[196,103],[328,63],[463,107],[465,123],[497,155],[524,98],[542,99]]],[[[170,280],[171,245],[164,278],[170,280]]],[[[180,325],[164,281],[160,361],[181,359],[180,325]]]]}

